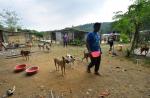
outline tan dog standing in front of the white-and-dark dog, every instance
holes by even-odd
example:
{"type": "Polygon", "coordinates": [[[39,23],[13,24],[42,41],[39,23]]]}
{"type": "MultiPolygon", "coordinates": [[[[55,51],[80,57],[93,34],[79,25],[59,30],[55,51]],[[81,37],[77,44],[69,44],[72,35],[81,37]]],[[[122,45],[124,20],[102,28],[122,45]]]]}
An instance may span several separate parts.
{"type": "Polygon", "coordinates": [[[60,67],[61,72],[62,72],[62,76],[63,76],[65,74],[65,69],[66,69],[65,58],[62,57],[62,60],[60,60],[58,58],[54,58],[54,63],[55,63],[56,71],[58,71],[59,67],[60,67]]]}

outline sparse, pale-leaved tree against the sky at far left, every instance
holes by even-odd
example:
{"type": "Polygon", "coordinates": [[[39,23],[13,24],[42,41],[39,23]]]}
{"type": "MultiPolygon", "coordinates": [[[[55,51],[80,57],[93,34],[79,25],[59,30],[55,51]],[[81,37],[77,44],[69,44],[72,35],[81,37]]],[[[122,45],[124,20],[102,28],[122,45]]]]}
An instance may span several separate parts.
{"type": "Polygon", "coordinates": [[[7,27],[10,31],[14,31],[19,27],[19,17],[15,11],[3,10],[0,13],[0,18],[2,19],[2,25],[7,27]]]}

